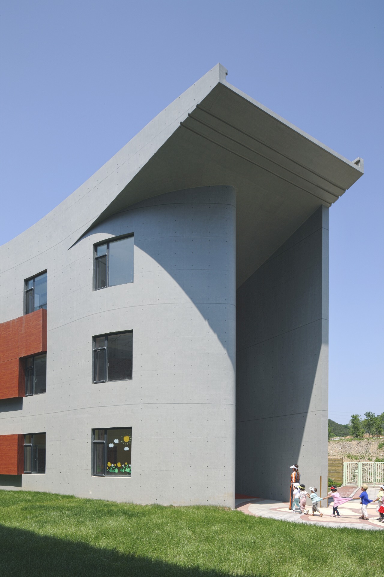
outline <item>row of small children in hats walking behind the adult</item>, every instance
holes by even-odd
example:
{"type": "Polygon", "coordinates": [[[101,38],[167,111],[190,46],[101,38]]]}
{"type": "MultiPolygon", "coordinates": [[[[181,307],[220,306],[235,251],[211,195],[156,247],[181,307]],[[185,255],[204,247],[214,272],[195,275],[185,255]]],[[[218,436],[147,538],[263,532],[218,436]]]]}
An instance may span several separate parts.
{"type": "Polygon", "coordinates": [[[378,496],[376,497],[376,499],[374,499],[372,501],[372,499],[368,499],[368,493],[367,493],[367,489],[368,489],[368,485],[363,484],[362,485],[362,492],[359,494],[358,497],[341,497],[339,491],[337,490],[336,487],[332,486],[330,487],[329,493],[326,497],[318,497],[317,495],[317,489],[315,487],[310,487],[310,493],[307,493],[305,490],[305,485],[300,485],[298,482],[294,483],[294,491],[293,491],[293,511],[294,512],[300,512],[301,514],[304,515],[314,515],[315,512],[319,512],[320,516],[322,517],[322,512],[318,510],[318,504],[320,503],[320,501],[324,500],[324,499],[329,499],[329,497],[333,497],[333,512],[332,512],[332,516],[333,517],[340,517],[340,513],[337,509],[337,507],[339,507],[339,505],[341,505],[341,503],[347,503],[347,501],[353,501],[356,499],[360,499],[360,502],[362,504],[362,516],[360,517],[360,519],[365,519],[368,520],[368,514],[367,514],[367,505],[368,503],[375,503],[375,501],[378,502],[377,505],[377,512],[379,514],[379,517],[377,518],[378,521],[384,523],[384,485],[380,485],[380,489],[379,489],[379,493],[378,496]],[[307,497],[310,497],[311,501],[312,501],[312,512],[309,512],[309,509],[306,509],[306,504],[307,504],[307,497]]]}

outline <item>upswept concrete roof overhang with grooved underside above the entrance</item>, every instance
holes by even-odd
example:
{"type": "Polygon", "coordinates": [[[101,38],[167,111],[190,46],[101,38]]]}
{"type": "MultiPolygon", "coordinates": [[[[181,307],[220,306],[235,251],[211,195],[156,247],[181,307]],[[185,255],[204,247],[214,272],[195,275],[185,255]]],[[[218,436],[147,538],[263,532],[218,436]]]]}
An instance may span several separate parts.
{"type": "Polygon", "coordinates": [[[362,176],[361,159],[343,158],[227,83],[226,74],[220,64],[212,68],[81,187],[104,190],[100,212],[89,215],[81,235],[146,198],[231,185],[239,286],[321,204],[329,207],[362,176]]]}

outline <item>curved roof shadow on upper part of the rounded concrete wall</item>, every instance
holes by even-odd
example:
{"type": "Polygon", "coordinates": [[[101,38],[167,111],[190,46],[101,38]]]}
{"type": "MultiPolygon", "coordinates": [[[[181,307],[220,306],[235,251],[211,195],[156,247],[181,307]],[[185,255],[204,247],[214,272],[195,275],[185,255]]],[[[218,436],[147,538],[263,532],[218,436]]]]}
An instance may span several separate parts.
{"type": "MultiPolygon", "coordinates": [[[[207,186],[162,194],[111,216],[82,237],[91,237],[95,233],[117,236],[134,232],[135,247],[148,254],[168,273],[169,286],[176,282],[184,291],[188,297],[186,302],[190,301],[195,305],[203,319],[210,325],[226,349],[233,367],[234,340],[230,338],[229,323],[223,319],[223,305],[232,306],[234,313],[234,304],[227,305],[226,299],[233,293],[229,283],[235,285],[235,278],[231,278],[231,275],[235,275],[235,260],[233,259],[232,263],[230,256],[230,250],[235,250],[235,198],[235,189],[232,186],[207,186]],[[208,231],[211,225],[219,231],[218,234],[226,232],[224,220],[218,223],[212,222],[215,218],[215,204],[228,210],[227,239],[218,237],[214,231],[208,231]],[[192,229],[195,228],[194,231],[191,230],[193,215],[184,212],[187,205],[195,207],[197,213],[195,226],[192,226],[192,229]],[[204,222],[198,232],[196,229],[199,222],[199,205],[204,207],[203,211],[209,211],[212,207],[212,220],[207,212],[203,212],[201,216],[204,222]],[[186,229],[189,233],[185,231],[186,229]],[[232,230],[233,238],[231,238],[232,230]],[[181,231],[184,233],[181,234],[181,231]],[[211,237],[208,234],[210,232],[211,237]],[[200,239],[203,239],[203,242],[200,242],[200,239]],[[210,251],[207,248],[208,239],[210,251]],[[215,242],[216,239],[219,242],[215,242]],[[191,240],[195,241],[195,246],[191,244],[191,240]],[[226,242],[229,243],[227,246],[226,242]],[[233,246],[230,246],[231,243],[233,246]],[[231,266],[233,270],[230,270],[231,266]],[[220,272],[223,271],[228,271],[227,282],[223,282],[223,276],[220,276],[220,272]]],[[[220,212],[220,218],[225,218],[223,212],[220,212]]],[[[166,294],[169,298],[172,291],[167,290],[166,294]]],[[[173,301],[169,300],[169,304],[172,305],[173,301]]]]}

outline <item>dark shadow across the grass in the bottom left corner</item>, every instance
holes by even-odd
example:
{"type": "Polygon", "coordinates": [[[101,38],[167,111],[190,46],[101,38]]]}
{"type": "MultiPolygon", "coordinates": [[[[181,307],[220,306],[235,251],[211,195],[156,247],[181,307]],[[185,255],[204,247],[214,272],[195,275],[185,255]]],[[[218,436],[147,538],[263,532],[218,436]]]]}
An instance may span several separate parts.
{"type": "MultiPolygon", "coordinates": [[[[0,525],[0,544],[0,574],[13,577],[229,577],[228,573],[215,570],[180,567],[3,525],[0,525]]],[[[236,575],[232,573],[231,577],[236,575]]]]}

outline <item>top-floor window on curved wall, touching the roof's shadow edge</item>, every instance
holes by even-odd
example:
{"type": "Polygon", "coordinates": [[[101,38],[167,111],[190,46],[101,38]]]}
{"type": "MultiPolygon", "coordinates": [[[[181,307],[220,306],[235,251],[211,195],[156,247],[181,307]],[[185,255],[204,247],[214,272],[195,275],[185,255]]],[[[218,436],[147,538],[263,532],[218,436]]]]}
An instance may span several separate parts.
{"type": "Polygon", "coordinates": [[[94,273],[95,290],[134,282],[134,237],[95,246],[94,273]]]}

